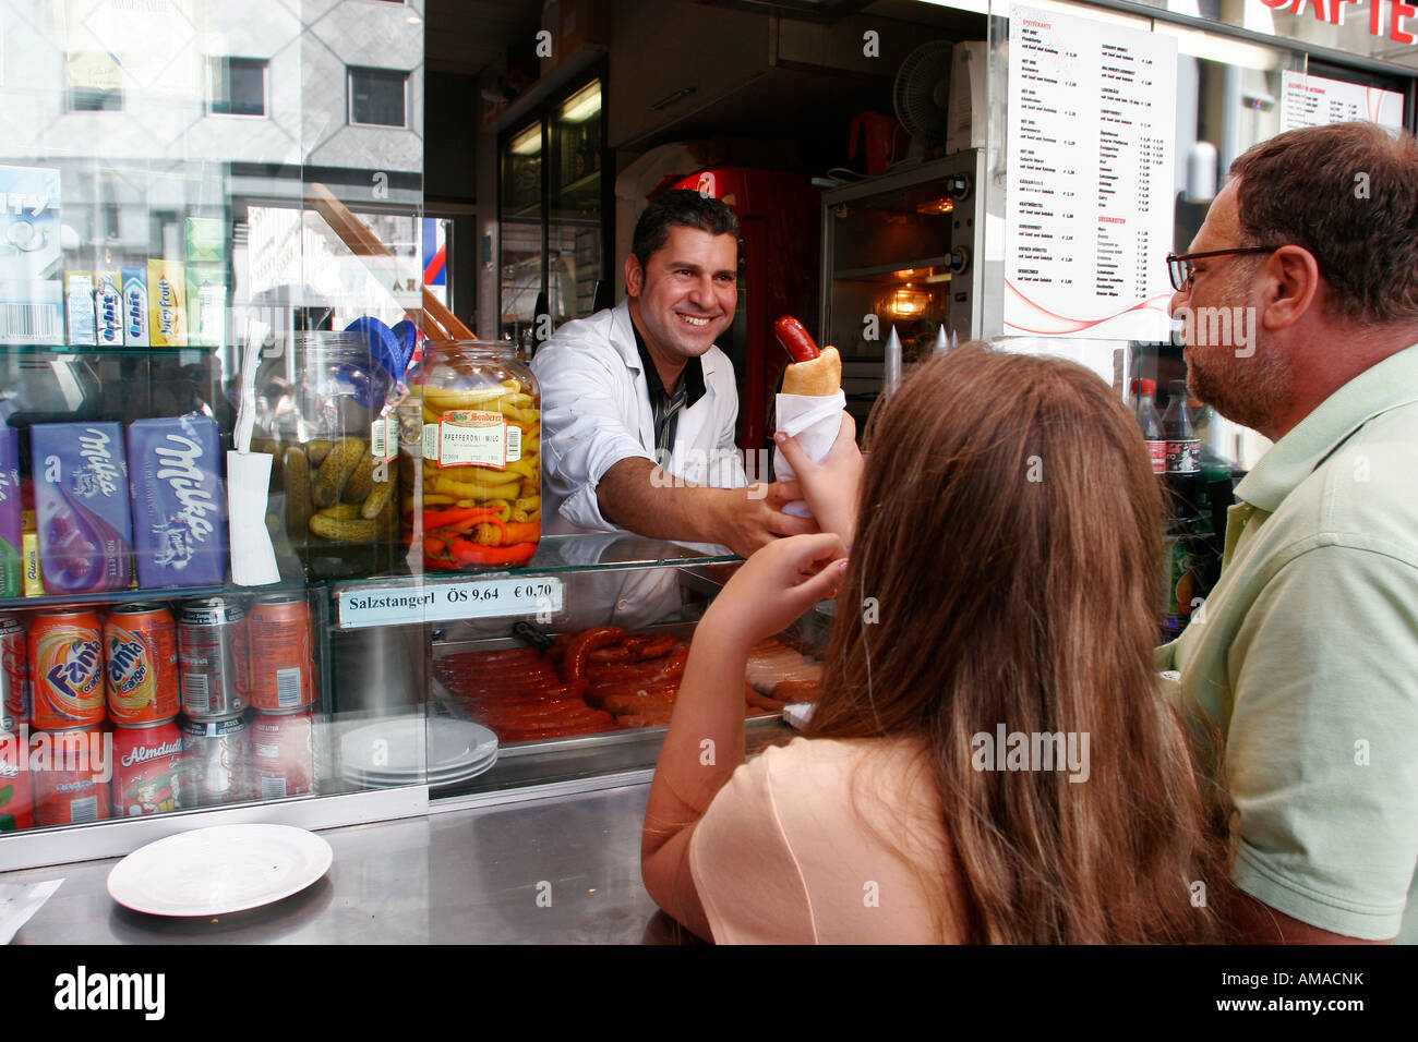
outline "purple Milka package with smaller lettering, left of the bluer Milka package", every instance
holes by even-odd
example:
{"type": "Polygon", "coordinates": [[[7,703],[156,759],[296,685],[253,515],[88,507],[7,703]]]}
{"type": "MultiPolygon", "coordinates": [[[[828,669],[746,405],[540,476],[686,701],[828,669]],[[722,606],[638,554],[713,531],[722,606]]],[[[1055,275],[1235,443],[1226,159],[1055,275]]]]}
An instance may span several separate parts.
{"type": "Polygon", "coordinates": [[[45,593],[126,590],[133,540],[123,428],[35,424],[30,456],[45,593]]]}

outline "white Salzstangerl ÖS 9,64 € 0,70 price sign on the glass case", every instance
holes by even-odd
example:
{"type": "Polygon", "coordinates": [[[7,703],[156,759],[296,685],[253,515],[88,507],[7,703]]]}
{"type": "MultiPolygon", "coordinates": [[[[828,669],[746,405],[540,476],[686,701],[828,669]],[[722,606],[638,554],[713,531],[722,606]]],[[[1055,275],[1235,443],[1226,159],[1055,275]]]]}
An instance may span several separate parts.
{"type": "Polygon", "coordinates": [[[552,615],[562,610],[562,580],[468,578],[410,581],[340,590],[340,629],[410,622],[452,622],[501,615],[552,615]]]}

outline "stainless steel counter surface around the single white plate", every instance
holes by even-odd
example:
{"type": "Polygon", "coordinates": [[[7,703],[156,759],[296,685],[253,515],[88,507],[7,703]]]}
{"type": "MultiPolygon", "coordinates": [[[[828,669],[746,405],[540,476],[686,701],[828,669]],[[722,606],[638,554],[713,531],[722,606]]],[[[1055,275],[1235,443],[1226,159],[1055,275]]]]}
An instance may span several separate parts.
{"type": "Polygon", "coordinates": [[[641,883],[648,794],[623,785],[328,829],[335,863],[315,886],[216,920],[118,906],[105,889],[116,858],[0,882],[64,878],[16,944],[692,943],[641,883]]]}

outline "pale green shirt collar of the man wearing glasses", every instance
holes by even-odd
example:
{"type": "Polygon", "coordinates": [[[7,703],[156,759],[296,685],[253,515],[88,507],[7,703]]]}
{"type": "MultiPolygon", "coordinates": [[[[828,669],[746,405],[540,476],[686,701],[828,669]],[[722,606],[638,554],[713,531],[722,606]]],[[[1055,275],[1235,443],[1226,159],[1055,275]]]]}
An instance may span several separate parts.
{"type": "Polygon", "coordinates": [[[1295,425],[1236,485],[1236,499],[1275,513],[1354,431],[1380,413],[1418,401],[1418,343],[1370,366],[1295,425]]]}

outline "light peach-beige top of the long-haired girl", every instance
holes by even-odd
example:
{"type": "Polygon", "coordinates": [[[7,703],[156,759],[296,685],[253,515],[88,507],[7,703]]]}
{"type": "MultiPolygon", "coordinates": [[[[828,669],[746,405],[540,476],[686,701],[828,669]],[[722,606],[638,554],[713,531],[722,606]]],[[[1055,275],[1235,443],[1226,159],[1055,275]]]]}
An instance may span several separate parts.
{"type": "Polygon", "coordinates": [[[739,767],[689,845],[713,939],[959,940],[940,798],[919,749],[794,739],[739,767]]]}

